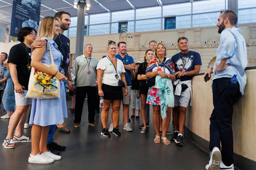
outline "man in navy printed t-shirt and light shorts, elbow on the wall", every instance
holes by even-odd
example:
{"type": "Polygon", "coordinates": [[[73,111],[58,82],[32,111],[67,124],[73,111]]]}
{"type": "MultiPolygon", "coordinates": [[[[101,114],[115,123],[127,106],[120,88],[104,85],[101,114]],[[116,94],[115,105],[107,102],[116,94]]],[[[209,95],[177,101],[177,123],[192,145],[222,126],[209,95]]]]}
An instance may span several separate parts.
{"type": "Polygon", "coordinates": [[[192,77],[194,74],[199,73],[202,62],[198,52],[188,49],[189,45],[186,37],[178,39],[178,47],[181,52],[171,58],[176,70],[176,79],[173,82],[175,93],[174,108],[172,110],[175,132],[171,140],[183,146],[182,132],[186,121],[187,106],[190,100],[192,102],[192,77]]]}

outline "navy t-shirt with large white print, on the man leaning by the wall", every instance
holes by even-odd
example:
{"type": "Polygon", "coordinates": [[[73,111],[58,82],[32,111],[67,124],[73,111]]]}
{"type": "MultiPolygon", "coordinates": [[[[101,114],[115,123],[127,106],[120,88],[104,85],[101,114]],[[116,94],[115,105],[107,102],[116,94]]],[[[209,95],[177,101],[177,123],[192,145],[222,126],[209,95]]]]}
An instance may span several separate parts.
{"type": "MultiPolygon", "coordinates": [[[[175,65],[175,71],[192,71],[195,69],[195,65],[202,65],[201,57],[198,52],[190,51],[182,54],[179,52],[172,56],[171,60],[175,65]]],[[[180,81],[192,80],[193,76],[181,76],[180,81]]]]}

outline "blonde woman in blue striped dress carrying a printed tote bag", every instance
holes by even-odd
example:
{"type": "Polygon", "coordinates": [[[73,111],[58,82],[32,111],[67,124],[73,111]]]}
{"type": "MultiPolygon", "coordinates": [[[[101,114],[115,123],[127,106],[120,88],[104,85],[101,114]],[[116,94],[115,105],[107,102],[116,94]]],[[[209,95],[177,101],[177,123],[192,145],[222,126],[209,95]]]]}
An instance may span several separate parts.
{"type": "Polygon", "coordinates": [[[33,124],[32,151],[29,155],[29,163],[46,164],[55,160],[60,160],[61,156],[55,155],[47,150],[47,137],[50,125],[61,124],[63,118],[67,118],[67,106],[65,87],[63,81],[67,81],[64,74],[57,71],[62,61],[62,54],[58,50],[54,39],[59,35],[59,21],[54,17],[44,17],[38,29],[38,36],[46,40],[41,48],[36,48],[33,55],[31,66],[37,70],[56,76],[60,80],[60,99],[33,99],[29,124],[33,124]],[[51,55],[53,55],[54,64],[58,66],[57,70],[47,67],[44,64],[51,64],[51,55]]]}

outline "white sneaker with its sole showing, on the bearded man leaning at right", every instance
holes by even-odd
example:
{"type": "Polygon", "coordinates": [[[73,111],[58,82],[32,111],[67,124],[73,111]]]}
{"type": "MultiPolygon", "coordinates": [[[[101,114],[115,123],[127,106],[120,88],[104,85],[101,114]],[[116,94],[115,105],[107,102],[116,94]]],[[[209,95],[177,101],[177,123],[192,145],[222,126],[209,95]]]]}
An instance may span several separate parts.
{"type": "Polygon", "coordinates": [[[205,166],[205,169],[220,169],[221,153],[218,147],[214,147],[210,153],[209,164],[205,166]]]}

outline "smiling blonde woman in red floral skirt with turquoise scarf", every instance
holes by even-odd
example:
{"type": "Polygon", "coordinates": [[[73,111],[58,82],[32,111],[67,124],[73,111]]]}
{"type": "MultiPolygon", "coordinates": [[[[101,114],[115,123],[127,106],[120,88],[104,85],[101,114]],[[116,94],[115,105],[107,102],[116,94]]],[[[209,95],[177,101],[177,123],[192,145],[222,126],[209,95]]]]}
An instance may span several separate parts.
{"type": "Polygon", "coordinates": [[[175,79],[175,66],[172,60],[166,57],[167,49],[163,43],[156,45],[155,57],[153,57],[146,69],[146,76],[155,77],[155,85],[149,88],[147,104],[153,105],[153,124],[156,131],[155,143],[161,141],[169,145],[170,141],[166,138],[172,107],[174,107],[174,95],[172,80],[175,79]],[[162,136],[160,140],[160,114],[162,116],[162,136]]]}

